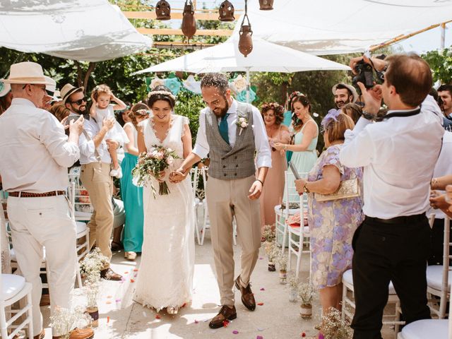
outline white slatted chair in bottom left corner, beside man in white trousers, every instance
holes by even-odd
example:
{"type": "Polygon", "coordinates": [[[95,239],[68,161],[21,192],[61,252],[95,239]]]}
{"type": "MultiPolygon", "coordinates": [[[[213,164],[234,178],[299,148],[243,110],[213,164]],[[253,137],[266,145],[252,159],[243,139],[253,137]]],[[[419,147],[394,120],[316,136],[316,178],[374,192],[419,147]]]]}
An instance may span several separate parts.
{"type": "Polygon", "coordinates": [[[28,338],[33,338],[32,285],[16,274],[1,274],[0,277],[0,334],[3,339],[18,338],[20,330],[28,330],[28,338]],[[24,302],[22,302],[24,301],[24,302]],[[14,308],[23,305],[20,308],[14,308]],[[18,323],[20,321],[20,323],[18,323]],[[8,334],[8,329],[13,330],[8,334]]]}

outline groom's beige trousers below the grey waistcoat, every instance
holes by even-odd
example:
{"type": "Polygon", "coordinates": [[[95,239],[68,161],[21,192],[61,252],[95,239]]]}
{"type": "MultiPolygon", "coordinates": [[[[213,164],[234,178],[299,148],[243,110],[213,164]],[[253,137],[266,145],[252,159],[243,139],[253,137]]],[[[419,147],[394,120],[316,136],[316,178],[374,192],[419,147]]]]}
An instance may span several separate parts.
{"type": "Polygon", "coordinates": [[[237,240],[242,246],[240,280],[246,286],[256,266],[261,246],[259,201],[248,198],[254,176],[244,179],[220,180],[209,177],[206,186],[210,218],[210,236],[215,259],[221,304],[234,305],[234,250],[232,218],[237,220],[237,240]]]}

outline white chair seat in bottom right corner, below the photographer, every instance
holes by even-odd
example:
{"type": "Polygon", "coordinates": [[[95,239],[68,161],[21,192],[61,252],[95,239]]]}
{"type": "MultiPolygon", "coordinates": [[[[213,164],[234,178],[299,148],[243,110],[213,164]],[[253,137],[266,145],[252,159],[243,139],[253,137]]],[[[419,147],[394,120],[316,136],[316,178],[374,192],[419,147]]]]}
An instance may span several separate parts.
{"type": "MultiPolygon", "coordinates": [[[[452,304],[452,289],[449,290],[449,304],[452,304]]],[[[451,339],[452,316],[449,319],[424,319],[404,326],[398,339],[451,339]]]]}

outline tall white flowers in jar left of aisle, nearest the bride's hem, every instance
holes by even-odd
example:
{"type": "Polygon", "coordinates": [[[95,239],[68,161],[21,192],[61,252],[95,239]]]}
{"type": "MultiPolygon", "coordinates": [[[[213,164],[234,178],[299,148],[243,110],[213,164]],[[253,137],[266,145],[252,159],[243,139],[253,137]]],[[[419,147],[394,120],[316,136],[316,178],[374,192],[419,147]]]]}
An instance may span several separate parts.
{"type": "Polygon", "coordinates": [[[85,276],[86,310],[92,319],[93,326],[97,326],[99,309],[97,308],[97,294],[100,288],[100,270],[105,268],[108,258],[96,247],[90,251],[80,263],[81,273],[85,276]]]}

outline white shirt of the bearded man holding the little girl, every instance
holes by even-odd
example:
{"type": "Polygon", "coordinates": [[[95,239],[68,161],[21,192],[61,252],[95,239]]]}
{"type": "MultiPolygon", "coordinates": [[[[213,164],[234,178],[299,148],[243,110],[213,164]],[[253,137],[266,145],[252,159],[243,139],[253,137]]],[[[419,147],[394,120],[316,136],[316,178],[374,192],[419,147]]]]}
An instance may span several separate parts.
{"type": "MultiPolygon", "coordinates": [[[[78,116],[78,114],[75,114],[73,112],[71,112],[71,114],[69,115],[78,116]]],[[[83,123],[83,129],[86,131],[86,133],[88,133],[88,136],[90,136],[90,140],[85,137],[84,133],[81,133],[80,138],[78,138],[78,147],[80,148],[80,163],[81,165],[86,165],[90,164],[91,162],[97,162],[93,138],[97,133],[99,133],[100,129],[93,118],[89,120],[85,119],[85,122],[83,123]]],[[[108,153],[108,146],[105,142],[105,138],[104,140],[102,140],[99,147],[97,147],[97,153],[99,153],[100,155],[101,162],[105,162],[107,164],[112,162],[112,157],[110,157],[110,153],[108,153]]]]}

